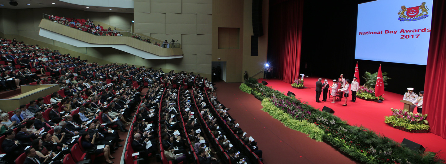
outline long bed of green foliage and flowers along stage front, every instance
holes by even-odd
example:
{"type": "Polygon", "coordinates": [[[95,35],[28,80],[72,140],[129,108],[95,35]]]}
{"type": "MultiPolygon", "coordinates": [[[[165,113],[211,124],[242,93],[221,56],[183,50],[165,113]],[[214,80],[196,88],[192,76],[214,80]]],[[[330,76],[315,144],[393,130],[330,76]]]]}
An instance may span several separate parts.
{"type": "MultiPolygon", "coordinates": [[[[248,80],[249,81],[249,80],[248,80]]],[[[351,126],[339,117],[311,107],[258,82],[245,82],[251,94],[262,101],[262,110],[290,129],[324,141],[362,164],[442,164],[438,152],[418,152],[362,126],[351,126]]],[[[402,115],[401,117],[409,115],[402,115]]],[[[410,116],[409,119],[421,118],[410,116]]],[[[423,116],[423,122],[425,117],[423,116]]]]}

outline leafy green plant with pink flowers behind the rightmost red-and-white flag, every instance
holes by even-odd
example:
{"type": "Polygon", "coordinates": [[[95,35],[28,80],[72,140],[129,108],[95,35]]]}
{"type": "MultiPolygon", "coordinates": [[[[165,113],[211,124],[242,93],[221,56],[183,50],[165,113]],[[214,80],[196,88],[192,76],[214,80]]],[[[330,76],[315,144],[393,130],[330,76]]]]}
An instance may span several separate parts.
{"type": "MultiPolygon", "coordinates": [[[[383,72],[383,82],[384,86],[387,86],[387,80],[391,79],[388,78],[386,75],[387,72],[383,72]]],[[[375,101],[375,100],[384,100],[382,96],[376,97],[375,96],[375,84],[376,84],[376,78],[378,77],[378,73],[370,74],[370,72],[364,73],[364,80],[366,81],[363,86],[359,86],[358,91],[356,92],[356,96],[360,99],[367,100],[367,101],[375,101]]],[[[385,87],[384,87],[385,88],[385,87]]]]}

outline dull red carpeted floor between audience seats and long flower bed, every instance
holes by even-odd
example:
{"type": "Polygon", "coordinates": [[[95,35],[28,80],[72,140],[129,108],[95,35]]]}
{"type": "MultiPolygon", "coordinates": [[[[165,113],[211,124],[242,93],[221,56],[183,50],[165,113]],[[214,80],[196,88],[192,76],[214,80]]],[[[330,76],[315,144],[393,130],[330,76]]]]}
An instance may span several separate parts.
{"type": "Polygon", "coordinates": [[[219,82],[217,98],[248,136],[258,142],[264,164],[355,164],[326,143],[285,127],[261,110],[260,101],[239,89],[240,83],[219,82]]]}

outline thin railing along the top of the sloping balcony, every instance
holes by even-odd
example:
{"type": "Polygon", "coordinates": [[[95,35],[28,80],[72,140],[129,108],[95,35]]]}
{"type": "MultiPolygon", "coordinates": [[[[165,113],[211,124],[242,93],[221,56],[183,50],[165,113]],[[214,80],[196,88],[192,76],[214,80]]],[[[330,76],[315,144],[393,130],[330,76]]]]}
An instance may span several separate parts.
{"type": "Polygon", "coordinates": [[[173,41],[156,41],[147,37],[140,36],[136,33],[131,33],[128,31],[108,31],[108,29],[102,29],[102,27],[97,28],[97,26],[94,25],[87,25],[88,23],[84,22],[83,20],[78,21],[77,20],[62,20],[59,16],[50,16],[47,14],[43,14],[43,19],[53,21],[55,23],[59,23],[62,25],[66,25],[75,29],[79,29],[82,31],[85,31],[86,33],[90,33],[91,35],[97,35],[97,36],[109,36],[109,37],[132,37],[135,39],[138,39],[140,41],[145,41],[152,45],[160,46],[161,48],[181,48],[180,43],[176,43],[173,41]]]}

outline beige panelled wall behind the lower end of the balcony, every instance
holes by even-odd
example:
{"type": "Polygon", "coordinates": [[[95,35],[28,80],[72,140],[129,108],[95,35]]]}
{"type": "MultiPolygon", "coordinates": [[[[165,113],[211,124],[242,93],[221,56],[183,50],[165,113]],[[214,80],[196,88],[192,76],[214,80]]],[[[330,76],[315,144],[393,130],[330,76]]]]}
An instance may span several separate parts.
{"type": "Polygon", "coordinates": [[[135,0],[135,33],[178,40],[183,57],[144,60],[150,66],[211,74],[211,0],[135,0]]]}

